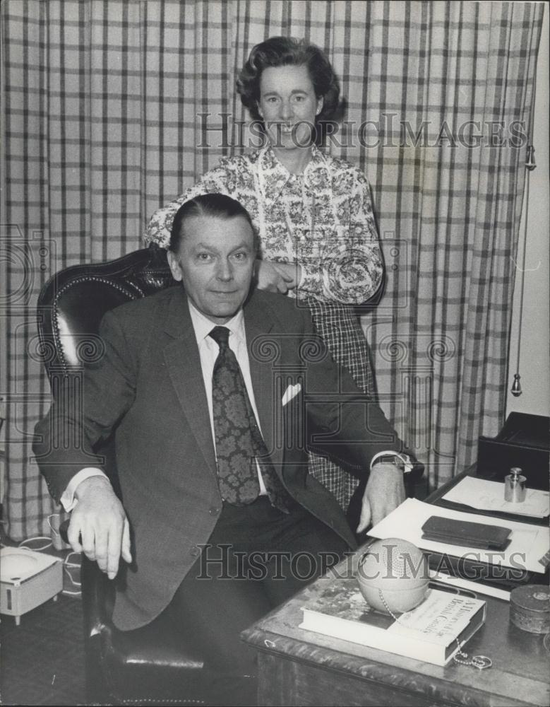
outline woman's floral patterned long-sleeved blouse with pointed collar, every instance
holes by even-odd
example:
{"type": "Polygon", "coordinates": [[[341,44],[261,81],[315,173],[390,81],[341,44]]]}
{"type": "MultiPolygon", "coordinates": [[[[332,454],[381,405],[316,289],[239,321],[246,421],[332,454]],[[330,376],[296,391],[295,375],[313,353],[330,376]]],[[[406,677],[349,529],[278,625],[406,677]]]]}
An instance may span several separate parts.
{"type": "Polygon", "coordinates": [[[210,192],[227,194],[249,211],[260,257],[301,266],[291,296],[360,304],[380,286],[383,264],[369,182],[354,165],[315,146],[301,175],[289,172],[270,147],[222,158],[181,197],[155,211],[145,241],[168,247],[179,206],[210,192]]]}

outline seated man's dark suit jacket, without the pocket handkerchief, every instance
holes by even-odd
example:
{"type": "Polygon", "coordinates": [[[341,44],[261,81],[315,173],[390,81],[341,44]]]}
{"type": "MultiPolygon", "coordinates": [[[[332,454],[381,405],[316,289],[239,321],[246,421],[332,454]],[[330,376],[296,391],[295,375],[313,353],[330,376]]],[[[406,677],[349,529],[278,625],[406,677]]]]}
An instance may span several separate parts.
{"type": "MultiPolygon", "coordinates": [[[[296,300],[256,291],[244,322],[259,422],[277,474],[296,501],[354,547],[335,499],[308,474],[304,440],[361,477],[373,454],[400,448],[395,431],[376,405],[367,412],[364,395],[327,354],[296,300]],[[297,382],[301,392],[283,407],[287,386],[297,382]]],[[[85,374],[83,415],[74,411],[74,395],[58,396],[37,425],[35,453],[59,500],[76,472],[98,465],[93,450],[115,433],[134,563],[126,588],[117,588],[113,619],[120,629],[136,629],[172,599],[208,542],[222,499],[184,289],[116,308],[100,336],[105,351],[85,374]],[[83,444],[63,449],[63,429],[83,444]]]]}

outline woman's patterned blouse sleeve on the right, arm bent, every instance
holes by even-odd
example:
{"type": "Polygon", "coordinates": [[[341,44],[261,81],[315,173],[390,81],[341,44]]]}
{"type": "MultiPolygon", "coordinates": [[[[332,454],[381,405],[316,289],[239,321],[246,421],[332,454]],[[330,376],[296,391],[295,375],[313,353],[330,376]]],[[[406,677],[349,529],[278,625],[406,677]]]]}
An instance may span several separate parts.
{"type": "Polygon", "coordinates": [[[383,259],[369,182],[355,169],[350,169],[345,177],[333,197],[339,223],[337,233],[326,239],[319,262],[300,262],[298,287],[321,300],[359,305],[381,286],[383,259]]]}

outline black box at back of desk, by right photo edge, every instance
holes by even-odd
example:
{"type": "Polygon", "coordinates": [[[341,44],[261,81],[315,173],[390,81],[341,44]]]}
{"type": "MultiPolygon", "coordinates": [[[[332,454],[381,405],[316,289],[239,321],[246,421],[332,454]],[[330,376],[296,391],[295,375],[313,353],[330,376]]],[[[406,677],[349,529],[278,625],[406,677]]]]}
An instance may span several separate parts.
{"type": "Polygon", "coordinates": [[[511,412],[496,437],[479,438],[479,476],[503,481],[511,467],[521,467],[527,488],[548,491],[550,418],[511,412]]]}

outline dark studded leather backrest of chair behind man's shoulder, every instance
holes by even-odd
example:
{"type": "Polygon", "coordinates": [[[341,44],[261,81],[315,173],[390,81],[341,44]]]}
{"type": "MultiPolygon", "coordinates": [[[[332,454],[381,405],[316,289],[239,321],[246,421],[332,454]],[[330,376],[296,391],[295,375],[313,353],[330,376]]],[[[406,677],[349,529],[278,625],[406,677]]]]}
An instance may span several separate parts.
{"type": "Polygon", "coordinates": [[[44,285],[38,298],[38,333],[50,380],[81,369],[101,350],[105,312],[175,284],[166,251],[156,245],[108,262],[74,265],[44,285]]]}

